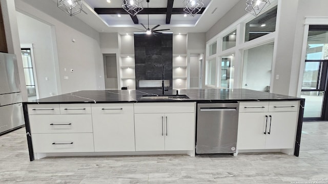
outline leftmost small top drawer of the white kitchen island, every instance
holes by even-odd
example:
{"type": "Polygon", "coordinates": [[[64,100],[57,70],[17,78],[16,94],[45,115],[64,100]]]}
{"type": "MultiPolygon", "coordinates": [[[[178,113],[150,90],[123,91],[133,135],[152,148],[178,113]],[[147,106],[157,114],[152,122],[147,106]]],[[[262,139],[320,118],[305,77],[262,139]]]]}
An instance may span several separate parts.
{"type": "Polygon", "coordinates": [[[29,104],[29,114],[59,114],[59,104],[29,104]]]}

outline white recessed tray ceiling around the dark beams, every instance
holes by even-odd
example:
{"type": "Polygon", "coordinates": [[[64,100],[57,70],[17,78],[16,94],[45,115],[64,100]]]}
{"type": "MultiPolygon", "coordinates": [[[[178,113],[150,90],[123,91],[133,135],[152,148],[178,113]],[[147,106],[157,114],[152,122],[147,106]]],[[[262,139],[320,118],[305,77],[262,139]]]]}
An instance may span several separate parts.
{"type": "MultiPolygon", "coordinates": [[[[161,25],[157,29],[171,29],[167,32],[173,32],[174,34],[187,34],[189,32],[207,32],[224,14],[226,14],[233,6],[239,1],[243,0],[204,0],[205,11],[195,17],[188,15],[171,16],[170,25],[166,25],[166,15],[149,15],[149,27],[152,28],[156,25],[161,25]],[[214,9],[216,11],[212,14],[214,9]]],[[[148,26],[147,15],[136,15],[139,20],[139,25],[135,25],[130,15],[98,15],[94,8],[121,8],[122,0],[111,0],[111,3],[107,3],[106,0],[84,0],[83,11],[77,15],[79,19],[86,22],[90,27],[94,28],[98,32],[118,32],[120,34],[132,34],[139,31],[138,29],[144,29],[140,23],[148,26]]],[[[143,3],[144,8],[147,8],[146,0],[143,3]]],[[[150,0],[149,8],[166,8],[167,1],[165,0],[150,0]]],[[[173,8],[183,8],[183,0],[175,0],[173,8]]]]}

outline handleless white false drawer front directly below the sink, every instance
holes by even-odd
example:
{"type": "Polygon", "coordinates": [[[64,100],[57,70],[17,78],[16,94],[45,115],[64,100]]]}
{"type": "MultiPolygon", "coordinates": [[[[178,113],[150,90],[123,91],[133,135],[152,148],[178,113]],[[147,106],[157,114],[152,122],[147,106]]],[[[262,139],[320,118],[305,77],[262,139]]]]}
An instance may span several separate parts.
{"type": "Polygon", "coordinates": [[[195,103],[168,102],[168,103],[136,103],[134,113],[181,113],[195,112],[195,103]]]}

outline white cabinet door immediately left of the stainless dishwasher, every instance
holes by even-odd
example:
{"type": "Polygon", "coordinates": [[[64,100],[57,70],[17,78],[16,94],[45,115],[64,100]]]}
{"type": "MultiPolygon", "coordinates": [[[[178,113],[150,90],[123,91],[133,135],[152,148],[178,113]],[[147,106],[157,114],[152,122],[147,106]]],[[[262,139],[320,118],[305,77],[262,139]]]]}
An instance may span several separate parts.
{"type": "Polygon", "coordinates": [[[194,140],[194,113],[165,114],[165,150],[193,150],[194,140]]]}

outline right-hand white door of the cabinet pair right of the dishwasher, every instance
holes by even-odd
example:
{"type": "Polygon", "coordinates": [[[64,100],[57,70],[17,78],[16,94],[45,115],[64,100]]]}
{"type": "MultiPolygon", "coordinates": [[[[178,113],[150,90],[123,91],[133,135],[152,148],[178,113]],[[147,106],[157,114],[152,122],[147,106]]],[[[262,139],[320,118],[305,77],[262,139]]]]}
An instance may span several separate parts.
{"type": "MultiPolygon", "coordinates": [[[[268,122],[265,148],[287,149],[295,145],[297,112],[271,112],[271,123],[268,122]],[[271,129],[270,129],[271,124],[271,129]]],[[[269,119],[270,120],[270,119],[269,119]]]]}

